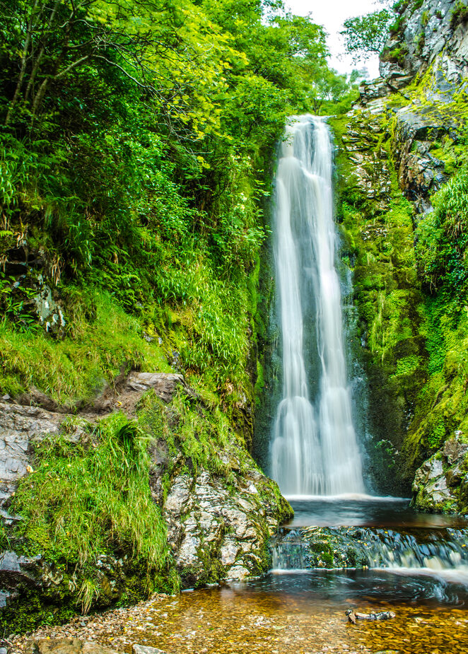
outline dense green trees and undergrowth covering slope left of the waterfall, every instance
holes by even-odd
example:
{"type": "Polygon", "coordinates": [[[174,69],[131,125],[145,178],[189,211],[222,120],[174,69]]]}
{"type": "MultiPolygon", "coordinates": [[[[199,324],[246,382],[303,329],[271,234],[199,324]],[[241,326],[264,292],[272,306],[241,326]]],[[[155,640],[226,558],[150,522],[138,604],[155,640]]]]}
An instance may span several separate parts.
{"type": "Polygon", "coordinates": [[[0,262],[19,242],[40,252],[67,322],[63,343],[37,334],[26,356],[15,332],[36,326],[23,311],[34,284],[13,293],[4,281],[4,389],[35,383],[69,401],[125,360],[168,367],[172,351],[186,373],[213,370],[218,390],[245,385],[247,276],[266,235],[274,144],[286,115],[319,96],[327,110],[349,101],[328,71],[324,30],[281,3],[238,0],[8,0],[0,18],[0,262]],[[137,322],[105,361],[100,312],[100,343],[91,338],[80,363],[88,318],[74,299],[96,288],[115,304],[110,317],[123,324],[123,308],[137,322]]]}

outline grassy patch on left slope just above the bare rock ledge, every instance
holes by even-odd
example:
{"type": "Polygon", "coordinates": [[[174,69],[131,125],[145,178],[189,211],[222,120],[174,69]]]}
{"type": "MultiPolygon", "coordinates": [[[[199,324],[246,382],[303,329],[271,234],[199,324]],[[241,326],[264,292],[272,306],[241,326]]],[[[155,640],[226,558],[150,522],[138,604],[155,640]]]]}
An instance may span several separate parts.
{"type": "Polygon", "coordinates": [[[92,288],[73,291],[63,340],[38,331],[18,332],[10,322],[0,322],[2,394],[16,395],[35,385],[67,404],[94,395],[126,362],[143,370],[171,370],[158,340],[148,343],[141,321],[125,313],[107,293],[92,288]]]}

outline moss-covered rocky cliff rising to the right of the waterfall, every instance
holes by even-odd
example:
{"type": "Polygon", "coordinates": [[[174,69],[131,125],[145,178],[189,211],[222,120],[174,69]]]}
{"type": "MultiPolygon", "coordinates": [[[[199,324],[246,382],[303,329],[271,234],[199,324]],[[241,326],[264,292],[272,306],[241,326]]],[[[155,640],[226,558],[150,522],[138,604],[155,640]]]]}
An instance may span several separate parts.
{"type": "Polygon", "coordinates": [[[361,86],[346,119],[332,119],[369,370],[368,447],[374,460],[382,450],[390,466],[378,477],[397,477],[408,490],[412,484],[416,506],[426,510],[467,506],[460,472],[468,434],[466,246],[447,226],[445,209],[455,187],[464,189],[467,19],[465,4],[400,4],[382,78],[361,86]]]}

